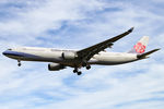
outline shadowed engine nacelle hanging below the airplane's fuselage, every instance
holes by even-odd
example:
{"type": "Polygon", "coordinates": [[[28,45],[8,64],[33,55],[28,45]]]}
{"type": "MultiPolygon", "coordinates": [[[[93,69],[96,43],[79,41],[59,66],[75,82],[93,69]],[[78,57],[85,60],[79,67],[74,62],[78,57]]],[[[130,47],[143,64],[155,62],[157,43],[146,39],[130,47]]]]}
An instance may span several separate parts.
{"type": "Polygon", "coordinates": [[[59,71],[59,70],[62,70],[65,68],[66,68],[65,65],[59,64],[59,63],[49,63],[48,64],[48,70],[49,71],[59,71]]]}

